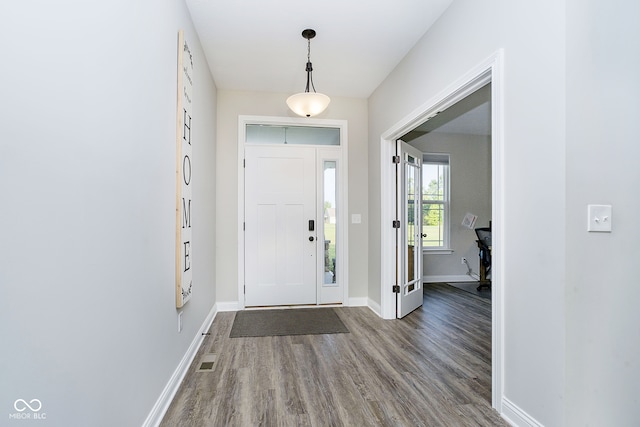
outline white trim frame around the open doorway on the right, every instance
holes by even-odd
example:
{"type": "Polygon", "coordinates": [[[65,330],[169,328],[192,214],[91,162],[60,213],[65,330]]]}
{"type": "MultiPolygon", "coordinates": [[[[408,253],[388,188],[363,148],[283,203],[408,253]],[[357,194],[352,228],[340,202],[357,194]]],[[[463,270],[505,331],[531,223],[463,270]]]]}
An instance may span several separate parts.
{"type": "Polygon", "coordinates": [[[502,50],[472,68],[442,92],[412,111],[381,136],[381,242],[380,242],[380,311],[384,319],[395,318],[396,299],[392,290],[395,280],[395,230],[391,227],[394,215],[395,180],[391,162],[395,154],[395,141],[465,98],[477,89],[491,83],[491,156],[492,156],[492,239],[491,298],[492,298],[492,406],[502,413],[504,390],[504,76],[502,50]]]}

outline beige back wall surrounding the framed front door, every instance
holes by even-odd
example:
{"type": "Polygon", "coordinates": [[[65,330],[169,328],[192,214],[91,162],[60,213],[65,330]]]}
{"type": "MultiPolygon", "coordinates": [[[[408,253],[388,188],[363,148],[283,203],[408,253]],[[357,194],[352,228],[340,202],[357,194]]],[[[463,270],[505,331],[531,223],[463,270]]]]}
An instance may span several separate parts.
{"type": "MultiPolygon", "coordinates": [[[[238,116],[294,117],[287,94],[219,91],[217,148],[217,300],[238,302],[238,116]]],[[[297,117],[297,116],[296,116],[297,117]]],[[[349,297],[367,296],[367,103],[364,99],[332,98],[322,119],[348,121],[349,218],[362,215],[361,224],[349,225],[349,297]]]]}

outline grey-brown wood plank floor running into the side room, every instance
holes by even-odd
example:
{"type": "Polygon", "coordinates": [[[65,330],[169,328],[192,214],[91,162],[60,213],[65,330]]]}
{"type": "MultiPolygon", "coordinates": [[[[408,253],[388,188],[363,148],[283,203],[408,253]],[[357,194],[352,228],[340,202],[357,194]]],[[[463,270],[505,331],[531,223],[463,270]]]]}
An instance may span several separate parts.
{"type": "Polygon", "coordinates": [[[490,301],[431,284],[401,320],[336,312],[351,333],[229,338],[235,313],[218,313],[161,425],[508,425],[491,408],[490,301]]]}

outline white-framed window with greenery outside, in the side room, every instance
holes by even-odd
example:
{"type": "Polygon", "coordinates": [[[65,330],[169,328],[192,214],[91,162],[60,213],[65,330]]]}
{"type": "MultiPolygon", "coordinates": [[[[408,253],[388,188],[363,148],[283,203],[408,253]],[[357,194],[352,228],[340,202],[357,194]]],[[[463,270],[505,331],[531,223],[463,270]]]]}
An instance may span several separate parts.
{"type": "Polygon", "coordinates": [[[449,154],[422,157],[422,249],[449,249],[449,154]]]}

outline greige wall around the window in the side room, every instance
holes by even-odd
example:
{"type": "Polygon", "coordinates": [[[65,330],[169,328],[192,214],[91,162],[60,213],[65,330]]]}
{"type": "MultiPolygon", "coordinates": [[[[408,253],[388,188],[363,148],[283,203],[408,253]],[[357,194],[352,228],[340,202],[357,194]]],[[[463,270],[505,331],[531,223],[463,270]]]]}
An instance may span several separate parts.
{"type": "Polygon", "coordinates": [[[491,221],[491,138],[432,132],[411,141],[411,145],[423,153],[450,155],[450,245],[453,253],[425,253],[423,275],[427,278],[466,276],[468,269],[461,264],[461,257],[465,257],[473,272],[479,274],[478,237],[475,231],[462,226],[462,219],[471,212],[478,216],[476,227],[488,227],[491,221]]]}

